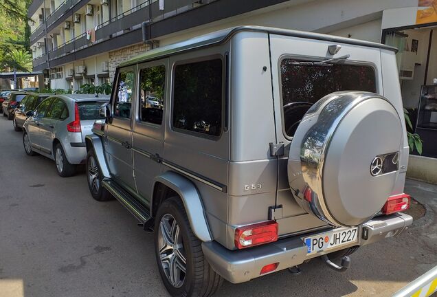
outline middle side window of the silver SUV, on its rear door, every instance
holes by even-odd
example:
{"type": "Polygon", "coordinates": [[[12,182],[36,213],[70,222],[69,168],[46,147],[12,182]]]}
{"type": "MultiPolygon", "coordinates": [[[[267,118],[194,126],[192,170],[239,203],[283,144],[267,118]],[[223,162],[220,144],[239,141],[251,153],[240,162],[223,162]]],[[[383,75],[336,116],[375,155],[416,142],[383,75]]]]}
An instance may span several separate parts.
{"type": "Polygon", "coordinates": [[[139,119],[142,122],[161,124],[164,109],[166,67],[148,67],[139,72],[139,119]]]}

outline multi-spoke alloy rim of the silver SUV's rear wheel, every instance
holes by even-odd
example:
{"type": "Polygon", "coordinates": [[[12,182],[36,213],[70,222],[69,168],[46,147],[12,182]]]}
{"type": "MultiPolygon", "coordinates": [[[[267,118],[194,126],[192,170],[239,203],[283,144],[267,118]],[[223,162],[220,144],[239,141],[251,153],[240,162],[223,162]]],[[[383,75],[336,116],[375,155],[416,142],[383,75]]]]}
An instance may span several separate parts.
{"type": "Polygon", "coordinates": [[[187,261],[181,229],[175,217],[164,214],[158,232],[159,256],[164,273],[173,287],[182,287],[186,277],[187,261]]]}

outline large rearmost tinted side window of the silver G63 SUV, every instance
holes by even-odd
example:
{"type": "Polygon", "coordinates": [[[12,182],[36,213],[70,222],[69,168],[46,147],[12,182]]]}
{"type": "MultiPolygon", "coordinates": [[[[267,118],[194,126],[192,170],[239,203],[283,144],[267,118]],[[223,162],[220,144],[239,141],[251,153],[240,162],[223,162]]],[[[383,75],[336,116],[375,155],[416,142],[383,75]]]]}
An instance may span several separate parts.
{"type": "Polygon", "coordinates": [[[174,82],[173,127],[219,136],[223,100],[221,59],[177,65],[174,82]]]}

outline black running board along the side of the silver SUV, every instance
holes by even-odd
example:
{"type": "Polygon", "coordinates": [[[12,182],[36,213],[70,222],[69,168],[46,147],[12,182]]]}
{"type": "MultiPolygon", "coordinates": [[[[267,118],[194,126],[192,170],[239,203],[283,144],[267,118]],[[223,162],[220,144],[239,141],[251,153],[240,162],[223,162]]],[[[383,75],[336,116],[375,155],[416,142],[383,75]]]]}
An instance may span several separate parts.
{"type": "Polygon", "coordinates": [[[146,206],[139,203],[131,194],[111,179],[103,179],[102,186],[109,190],[109,192],[144,225],[144,229],[151,227],[153,220],[146,206]]]}

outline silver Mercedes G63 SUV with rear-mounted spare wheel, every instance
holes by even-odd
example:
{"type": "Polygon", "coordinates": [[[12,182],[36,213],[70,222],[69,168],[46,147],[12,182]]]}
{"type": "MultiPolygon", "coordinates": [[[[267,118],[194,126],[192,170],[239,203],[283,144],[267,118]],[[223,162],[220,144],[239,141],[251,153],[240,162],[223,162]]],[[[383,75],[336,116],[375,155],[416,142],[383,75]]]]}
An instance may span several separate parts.
{"type": "Polygon", "coordinates": [[[346,270],[348,254],[412,223],[395,54],[238,27],[132,58],[86,139],[91,195],[154,230],[172,296],[316,257],[346,270]]]}

